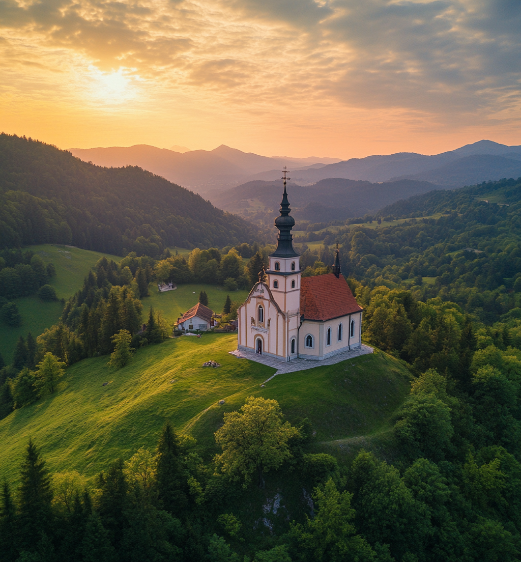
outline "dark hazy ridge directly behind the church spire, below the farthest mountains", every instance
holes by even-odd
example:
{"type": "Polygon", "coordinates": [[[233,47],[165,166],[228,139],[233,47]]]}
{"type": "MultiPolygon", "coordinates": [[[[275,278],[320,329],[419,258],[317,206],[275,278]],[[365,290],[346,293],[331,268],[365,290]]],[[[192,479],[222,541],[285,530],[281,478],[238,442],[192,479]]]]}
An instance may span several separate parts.
{"type": "MultiPolygon", "coordinates": [[[[437,186],[432,183],[410,179],[371,183],[331,178],[313,185],[298,185],[293,182],[287,185],[291,214],[297,221],[309,220],[313,223],[372,214],[385,205],[433,189],[437,189],[437,186]]],[[[245,218],[271,223],[277,214],[280,200],[280,180],[254,180],[217,194],[212,202],[220,209],[245,218]]]]}

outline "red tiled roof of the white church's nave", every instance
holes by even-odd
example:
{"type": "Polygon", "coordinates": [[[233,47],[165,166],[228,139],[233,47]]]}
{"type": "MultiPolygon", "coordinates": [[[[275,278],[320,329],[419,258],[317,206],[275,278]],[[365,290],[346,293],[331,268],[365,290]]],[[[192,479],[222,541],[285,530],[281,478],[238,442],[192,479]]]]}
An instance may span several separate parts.
{"type": "Polygon", "coordinates": [[[332,320],[362,311],[344,275],[333,273],[300,280],[300,314],[305,320],[332,320]]]}

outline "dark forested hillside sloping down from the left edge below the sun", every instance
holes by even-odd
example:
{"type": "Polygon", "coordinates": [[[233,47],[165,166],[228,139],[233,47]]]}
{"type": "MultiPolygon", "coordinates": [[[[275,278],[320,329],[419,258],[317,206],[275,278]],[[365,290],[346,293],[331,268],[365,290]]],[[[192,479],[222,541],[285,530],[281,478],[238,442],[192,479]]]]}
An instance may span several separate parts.
{"type": "Polygon", "coordinates": [[[135,166],[104,168],[0,134],[0,244],[61,243],[124,256],[250,242],[254,229],[135,166]]]}

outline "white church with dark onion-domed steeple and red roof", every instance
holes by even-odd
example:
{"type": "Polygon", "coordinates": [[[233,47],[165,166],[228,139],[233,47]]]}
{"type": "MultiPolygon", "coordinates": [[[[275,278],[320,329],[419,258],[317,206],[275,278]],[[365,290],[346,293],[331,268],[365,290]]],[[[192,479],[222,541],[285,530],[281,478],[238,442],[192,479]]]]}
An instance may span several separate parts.
{"type": "Polygon", "coordinates": [[[259,273],[259,282],[237,310],[237,348],[281,361],[320,361],[362,345],[363,309],[340,273],[338,248],[333,273],[302,278],[283,179],[277,248],[269,256],[269,269],[259,273]]]}

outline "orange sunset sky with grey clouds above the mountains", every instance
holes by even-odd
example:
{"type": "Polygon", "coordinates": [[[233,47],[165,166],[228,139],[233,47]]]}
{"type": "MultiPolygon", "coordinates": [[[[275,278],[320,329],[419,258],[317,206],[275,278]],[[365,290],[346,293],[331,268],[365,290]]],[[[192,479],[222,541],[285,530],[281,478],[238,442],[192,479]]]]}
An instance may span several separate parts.
{"type": "Polygon", "coordinates": [[[521,144],[521,0],[0,0],[0,130],[266,156],[521,144]]]}

